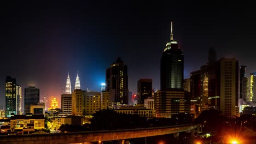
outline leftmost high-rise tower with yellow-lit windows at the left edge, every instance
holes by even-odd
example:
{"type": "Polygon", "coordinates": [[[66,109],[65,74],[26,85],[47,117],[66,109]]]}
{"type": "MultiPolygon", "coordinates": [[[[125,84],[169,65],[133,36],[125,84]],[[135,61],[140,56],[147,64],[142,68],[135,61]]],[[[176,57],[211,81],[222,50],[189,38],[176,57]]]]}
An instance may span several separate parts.
{"type": "Polygon", "coordinates": [[[16,79],[7,76],[5,78],[5,117],[10,117],[11,113],[16,115],[16,107],[16,79]]]}

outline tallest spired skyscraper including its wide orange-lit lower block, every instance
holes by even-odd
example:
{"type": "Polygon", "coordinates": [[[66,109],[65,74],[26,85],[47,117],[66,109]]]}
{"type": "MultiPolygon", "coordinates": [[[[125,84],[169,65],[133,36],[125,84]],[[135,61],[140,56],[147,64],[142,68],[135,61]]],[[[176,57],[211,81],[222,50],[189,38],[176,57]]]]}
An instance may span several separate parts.
{"type": "Polygon", "coordinates": [[[166,44],[161,57],[161,90],[154,95],[156,117],[170,118],[176,113],[190,112],[190,93],[183,89],[183,52],[177,41],[171,39],[166,44]]]}

